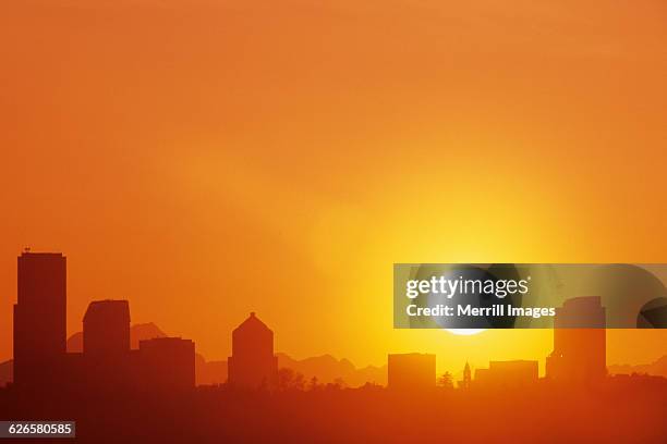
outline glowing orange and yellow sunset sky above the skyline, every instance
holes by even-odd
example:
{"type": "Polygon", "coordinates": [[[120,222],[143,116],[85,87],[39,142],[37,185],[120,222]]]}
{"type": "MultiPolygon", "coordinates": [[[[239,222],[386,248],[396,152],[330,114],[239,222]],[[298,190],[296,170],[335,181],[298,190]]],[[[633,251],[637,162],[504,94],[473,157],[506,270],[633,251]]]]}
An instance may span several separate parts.
{"type": "Polygon", "coordinates": [[[295,357],[452,369],[550,332],[393,331],[393,262],[665,262],[667,4],[444,3],[3,2],[0,359],[26,245],[70,332],[128,298],[225,358],[255,310],[295,357]]]}

